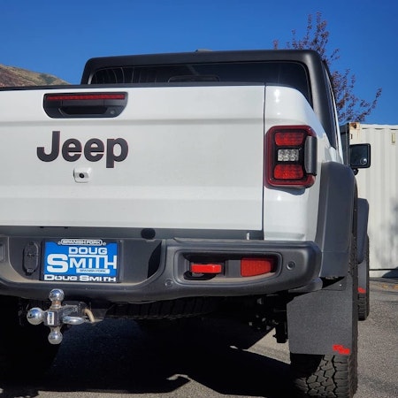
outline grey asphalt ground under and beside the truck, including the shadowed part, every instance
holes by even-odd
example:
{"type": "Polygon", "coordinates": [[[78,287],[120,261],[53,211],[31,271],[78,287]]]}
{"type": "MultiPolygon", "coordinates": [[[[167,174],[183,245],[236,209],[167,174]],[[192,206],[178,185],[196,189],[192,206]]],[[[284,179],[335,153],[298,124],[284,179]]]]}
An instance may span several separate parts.
{"type": "MultiPolygon", "coordinates": [[[[371,280],[371,315],[359,323],[356,398],[398,397],[398,281],[371,280]]],[[[230,321],[161,330],[132,320],[73,326],[43,379],[0,383],[0,398],[287,398],[287,344],[230,321]]]]}

